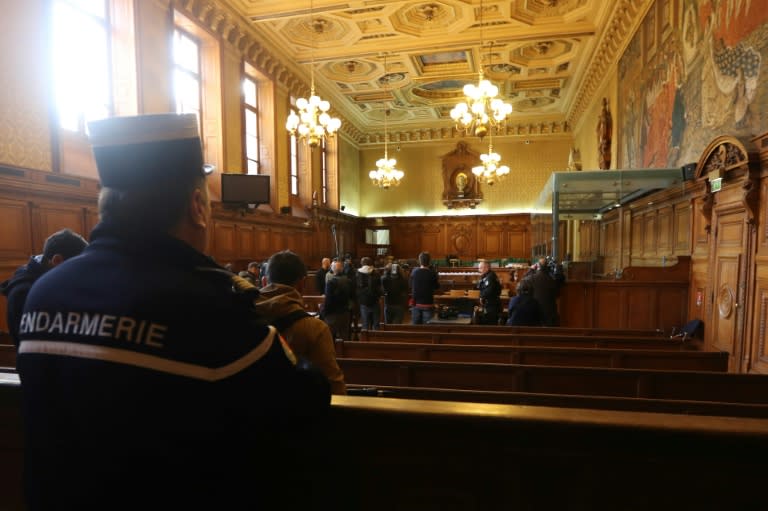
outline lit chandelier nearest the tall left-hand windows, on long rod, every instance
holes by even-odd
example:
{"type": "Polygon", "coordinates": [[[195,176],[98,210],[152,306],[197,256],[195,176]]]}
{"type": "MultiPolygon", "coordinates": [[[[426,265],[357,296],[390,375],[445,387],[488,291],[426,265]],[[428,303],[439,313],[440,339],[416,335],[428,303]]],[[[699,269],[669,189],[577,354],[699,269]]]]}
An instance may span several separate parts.
{"type": "Polygon", "coordinates": [[[331,104],[328,101],[320,99],[315,94],[315,33],[323,31],[323,23],[315,22],[312,18],[313,3],[310,2],[309,17],[312,25],[312,62],[309,68],[310,88],[309,99],[299,98],[296,100],[298,114],[291,109],[285,128],[291,135],[299,136],[299,139],[306,140],[310,147],[315,148],[320,145],[320,140],[325,137],[332,137],[341,127],[341,120],[337,117],[331,117],[328,110],[331,104]]]}

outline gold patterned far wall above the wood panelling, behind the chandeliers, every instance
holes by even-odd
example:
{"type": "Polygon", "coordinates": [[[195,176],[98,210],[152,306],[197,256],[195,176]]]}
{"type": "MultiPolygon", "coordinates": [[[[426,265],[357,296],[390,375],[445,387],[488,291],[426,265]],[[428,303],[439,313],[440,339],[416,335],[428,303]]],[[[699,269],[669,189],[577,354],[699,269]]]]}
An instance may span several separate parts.
{"type": "Polygon", "coordinates": [[[389,190],[376,188],[368,172],[384,156],[383,146],[360,150],[360,216],[435,216],[478,215],[529,212],[551,172],[565,170],[571,147],[570,135],[529,139],[494,139],[494,151],[510,167],[510,175],[493,186],[480,185],[484,200],[475,209],[449,210],[442,203],[443,178],[441,157],[456,148],[460,140],[471,150],[488,152],[488,139],[459,138],[419,144],[389,146],[389,157],[397,159],[397,168],[405,172],[400,186],[389,190]],[[526,143],[529,140],[529,143],[526,143]],[[399,150],[398,150],[399,147],[399,150]]]}

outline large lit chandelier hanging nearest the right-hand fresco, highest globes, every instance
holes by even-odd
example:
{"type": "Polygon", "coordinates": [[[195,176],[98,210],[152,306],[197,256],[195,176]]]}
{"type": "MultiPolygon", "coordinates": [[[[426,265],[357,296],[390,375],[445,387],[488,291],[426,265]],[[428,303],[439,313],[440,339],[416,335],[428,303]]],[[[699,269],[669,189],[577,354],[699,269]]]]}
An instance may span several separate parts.
{"type": "MultiPolygon", "coordinates": [[[[480,0],[480,51],[483,48],[483,2],[480,0]]],[[[490,46],[493,49],[493,44],[490,46]]],[[[492,56],[491,50],[488,58],[492,56]]],[[[491,128],[498,129],[512,113],[512,105],[500,98],[499,88],[483,77],[483,65],[480,63],[477,85],[468,83],[464,86],[464,101],[451,109],[451,119],[456,129],[462,133],[472,133],[480,140],[491,128]]]]}

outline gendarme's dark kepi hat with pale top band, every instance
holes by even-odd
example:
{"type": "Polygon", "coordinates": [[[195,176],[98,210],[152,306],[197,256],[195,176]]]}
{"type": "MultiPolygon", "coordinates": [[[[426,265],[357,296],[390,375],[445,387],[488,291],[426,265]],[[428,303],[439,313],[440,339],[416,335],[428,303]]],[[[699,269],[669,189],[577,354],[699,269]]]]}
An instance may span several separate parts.
{"type": "Polygon", "coordinates": [[[130,190],[210,174],[195,114],[111,117],[88,123],[102,186],[130,190]]]}

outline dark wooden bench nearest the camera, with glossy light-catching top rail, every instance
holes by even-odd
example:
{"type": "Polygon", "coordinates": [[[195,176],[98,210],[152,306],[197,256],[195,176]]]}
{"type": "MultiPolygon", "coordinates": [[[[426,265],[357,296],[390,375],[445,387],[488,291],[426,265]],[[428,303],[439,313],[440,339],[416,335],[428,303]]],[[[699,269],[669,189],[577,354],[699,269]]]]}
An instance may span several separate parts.
{"type": "MultiPolygon", "coordinates": [[[[18,391],[0,385],[7,511],[23,509],[18,391]]],[[[766,419],[334,396],[327,420],[327,456],[302,468],[343,481],[339,510],[765,507],[766,419]]]]}

